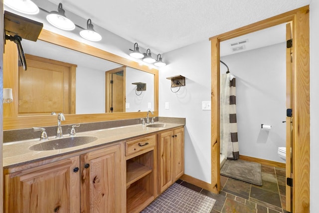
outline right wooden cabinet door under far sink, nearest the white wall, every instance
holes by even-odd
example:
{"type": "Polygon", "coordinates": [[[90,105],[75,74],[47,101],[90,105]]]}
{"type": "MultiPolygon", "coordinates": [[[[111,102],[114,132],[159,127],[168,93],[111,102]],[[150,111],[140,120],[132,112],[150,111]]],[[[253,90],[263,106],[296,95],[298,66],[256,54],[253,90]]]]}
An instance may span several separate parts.
{"type": "Polygon", "coordinates": [[[174,130],[173,136],[173,181],[176,181],[184,174],[184,128],[174,130]]]}

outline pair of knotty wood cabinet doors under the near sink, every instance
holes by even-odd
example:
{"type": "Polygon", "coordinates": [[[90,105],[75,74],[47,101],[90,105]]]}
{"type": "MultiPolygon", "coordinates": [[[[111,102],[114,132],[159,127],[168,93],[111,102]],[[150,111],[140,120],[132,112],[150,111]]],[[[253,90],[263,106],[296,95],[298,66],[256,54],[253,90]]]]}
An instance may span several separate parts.
{"type": "Polygon", "coordinates": [[[4,172],[5,213],[126,212],[123,144],[4,172]]]}

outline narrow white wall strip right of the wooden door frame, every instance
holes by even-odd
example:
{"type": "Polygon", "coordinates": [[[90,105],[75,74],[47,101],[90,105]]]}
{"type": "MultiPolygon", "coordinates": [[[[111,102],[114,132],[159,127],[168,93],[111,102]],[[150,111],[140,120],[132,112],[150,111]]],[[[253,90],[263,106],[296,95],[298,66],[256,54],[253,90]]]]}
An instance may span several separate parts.
{"type": "Polygon", "coordinates": [[[310,4],[310,212],[319,212],[319,1],[310,4]]]}

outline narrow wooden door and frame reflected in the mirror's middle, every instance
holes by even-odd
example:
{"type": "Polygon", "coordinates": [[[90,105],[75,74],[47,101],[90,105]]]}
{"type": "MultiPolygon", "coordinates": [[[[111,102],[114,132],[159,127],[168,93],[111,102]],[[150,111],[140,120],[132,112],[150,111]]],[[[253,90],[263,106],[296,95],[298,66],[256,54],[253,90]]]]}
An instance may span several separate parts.
{"type": "Polygon", "coordinates": [[[105,112],[125,112],[126,67],[105,72],[105,112]]]}

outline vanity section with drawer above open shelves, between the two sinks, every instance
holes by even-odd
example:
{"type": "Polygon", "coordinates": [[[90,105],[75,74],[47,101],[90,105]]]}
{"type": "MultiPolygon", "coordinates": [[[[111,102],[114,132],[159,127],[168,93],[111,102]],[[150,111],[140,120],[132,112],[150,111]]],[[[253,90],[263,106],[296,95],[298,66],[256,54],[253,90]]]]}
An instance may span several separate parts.
{"type": "Polygon", "coordinates": [[[126,142],[127,212],[139,213],[157,195],[156,135],[126,142]]]}

